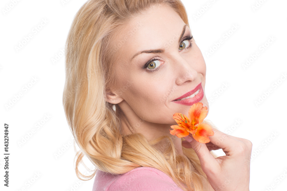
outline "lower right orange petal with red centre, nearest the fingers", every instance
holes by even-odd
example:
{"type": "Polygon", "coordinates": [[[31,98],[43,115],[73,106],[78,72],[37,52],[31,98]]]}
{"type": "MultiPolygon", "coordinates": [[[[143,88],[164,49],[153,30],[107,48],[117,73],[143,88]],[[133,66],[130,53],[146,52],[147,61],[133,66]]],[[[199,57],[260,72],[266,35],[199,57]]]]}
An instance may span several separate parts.
{"type": "Polygon", "coordinates": [[[214,132],[212,127],[206,123],[200,123],[197,125],[197,131],[193,134],[193,138],[199,143],[209,143],[209,136],[213,136],[214,132]]]}

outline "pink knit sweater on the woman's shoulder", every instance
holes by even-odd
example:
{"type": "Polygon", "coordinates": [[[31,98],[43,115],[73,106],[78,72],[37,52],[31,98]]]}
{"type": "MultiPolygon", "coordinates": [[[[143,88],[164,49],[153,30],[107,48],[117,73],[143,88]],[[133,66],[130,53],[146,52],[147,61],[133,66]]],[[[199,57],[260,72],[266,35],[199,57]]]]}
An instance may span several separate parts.
{"type": "Polygon", "coordinates": [[[98,170],[92,191],[182,191],[164,172],[151,167],[137,167],[113,176],[98,170]]]}

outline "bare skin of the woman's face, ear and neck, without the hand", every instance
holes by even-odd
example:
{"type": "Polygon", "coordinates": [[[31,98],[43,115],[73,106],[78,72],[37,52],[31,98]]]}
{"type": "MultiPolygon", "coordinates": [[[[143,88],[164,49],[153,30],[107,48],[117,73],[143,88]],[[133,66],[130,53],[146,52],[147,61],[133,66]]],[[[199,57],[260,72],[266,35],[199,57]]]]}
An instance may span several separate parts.
{"type": "MultiPolygon", "coordinates": [[[[143,133],[149,140],[168,135],[174,140],[177,152],[183,154],[181,139],[171,135],[168,129],[172,130],[170,126],[177,125],[172,115],[177,112],[188,115],[190,106],[172,101],[193,90],[199,83],[204,90],[204,58],[193,39],[191,48],[180,50],[178,41],[192,34],[187,26],[179,39],[185,23],[172,8],[156,5],[144,15],[134,17],[117,33],[115,42],[123,39],[137,23],[141,23],[139,29],[117,52],[117,83],[113,94],[108,94],[108,102],[118,104],[122,109],[122,129],[125,133],[143,133]],[[142,53],[130,61],[137,52],[151,49],[164,49],[164,53],[142,53]],[[155,69],[158,70],[149,72],[143,67],[153,58],[160,59],[155,61],[158,64],[155,69]]],[[[182,44],[189,46],[187,40],[182,44]]],[[[205,96],[200,102],[209,107],[205,96]]]]}

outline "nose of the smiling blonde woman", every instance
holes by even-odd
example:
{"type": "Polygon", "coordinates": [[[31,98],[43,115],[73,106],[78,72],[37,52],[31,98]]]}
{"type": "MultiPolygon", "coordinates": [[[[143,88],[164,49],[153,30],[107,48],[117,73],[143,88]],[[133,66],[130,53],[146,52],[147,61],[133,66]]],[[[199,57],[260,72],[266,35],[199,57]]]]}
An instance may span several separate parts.
{"type": "Polygon", "coordinates": [[[188,61],[181,55],[177,55],[177,62],[174,64],[174,72],[176,76],[176,84],[182,85],[185,82],[192,82],[197,78],[197,71],[192,66],[192,61],[188,61]]]}

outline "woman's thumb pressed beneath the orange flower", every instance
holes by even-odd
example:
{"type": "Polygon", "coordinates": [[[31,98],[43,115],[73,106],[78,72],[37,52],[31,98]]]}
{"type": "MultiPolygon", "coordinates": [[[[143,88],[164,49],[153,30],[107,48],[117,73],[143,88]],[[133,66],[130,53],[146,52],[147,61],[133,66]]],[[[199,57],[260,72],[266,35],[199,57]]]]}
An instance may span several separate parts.
{"type": "MultiPolygon", "coordinates": [[[[214,156],[210,153],[209,149],[207,148],[205,143],[199,143],[195,139],[193,139],[192,135],[189,134],[186,137],[183,137],[189,144],[191,145],[191,148],[195,151],[197,154],[201,167],[203,168],[204,164],[212,165],[216,162],[214,156]]],[[[186,143],[187,144],[187,143],[186,143]]]]}

